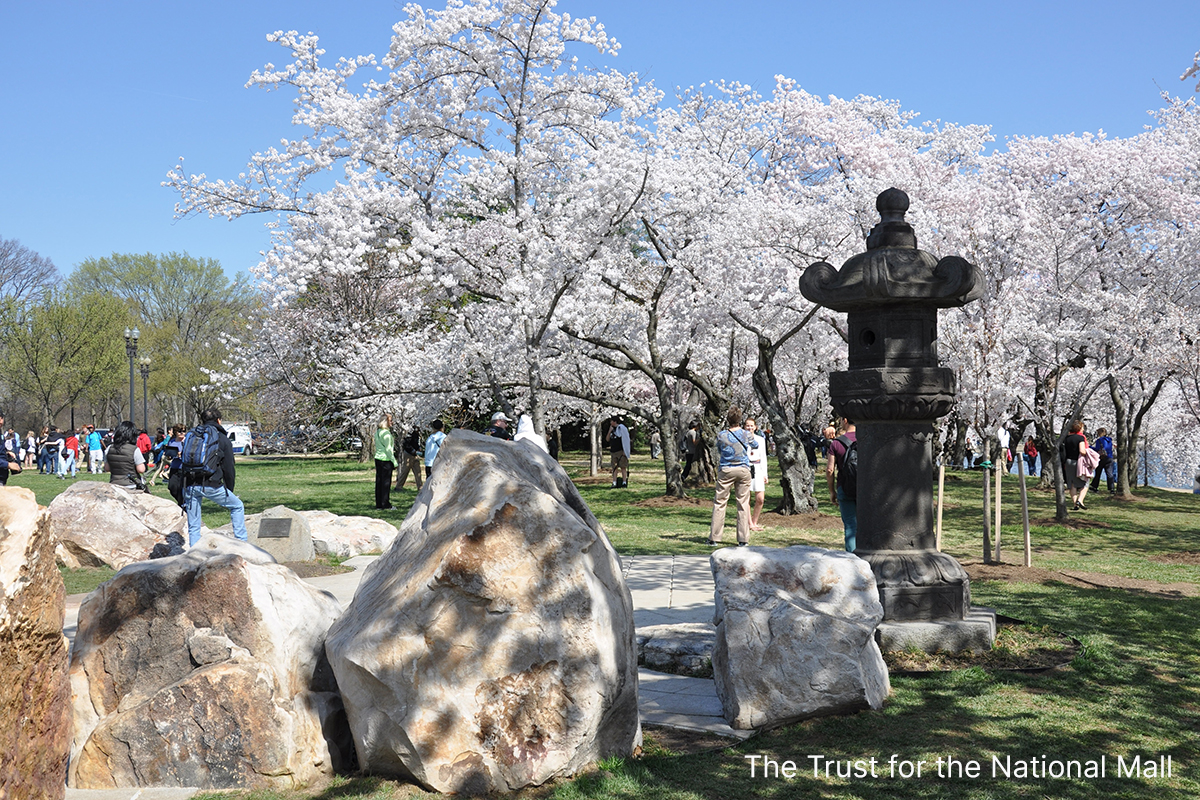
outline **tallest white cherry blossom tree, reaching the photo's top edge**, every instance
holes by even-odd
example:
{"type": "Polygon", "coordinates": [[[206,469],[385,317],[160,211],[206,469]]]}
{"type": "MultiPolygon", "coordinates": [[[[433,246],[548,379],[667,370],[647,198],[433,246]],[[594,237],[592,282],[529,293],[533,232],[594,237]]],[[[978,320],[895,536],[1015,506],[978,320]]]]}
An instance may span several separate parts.
{"type": "Polygon", "coordinates": [[[256,155],[235,181],[168,175],[179,216],[282,216],[258,270],[276,309],[347,279],[394,299],[371,318],[331,314],[322,336],[293,341],[288,315],[264,329],[280,372],[316,365],[293,373],[296,387],[370,404],[425,391],[403,378],[433,362],[454,367],[434,369],[443,387],[482,383],[506,405],[498,375],[517,360],[542,429],[542,345],[583,265],[629,224],[644,182],[637,119],[658,100],[634,77],[580,67],[572,48],[618,46],[554,5],[408,6],[386,56],[334,66],[316,36],[276,32],[292,62],[250,84],[294,90],[293,122],[310,133],[256,155]],[[354,86],[364,68],[384,74],[354,86]]]}

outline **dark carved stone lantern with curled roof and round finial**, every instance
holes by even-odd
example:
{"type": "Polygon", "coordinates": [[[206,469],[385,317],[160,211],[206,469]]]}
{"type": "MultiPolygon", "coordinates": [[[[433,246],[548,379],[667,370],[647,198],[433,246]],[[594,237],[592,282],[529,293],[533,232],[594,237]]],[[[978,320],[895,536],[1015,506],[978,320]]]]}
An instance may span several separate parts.
{"type": "MultiPolygon", "coordinates": [[[[882,219],[866,252],[840,270],[823,261],[805,270],[803,295],[846,312],[850,368],[829,375],[834,410],[858,433],[858,537],[854,553],[871,565],[883,603],[881,632],[900,631],[886,650],[986,649],[995,614],[971,612],[962,565],[935,548],[934,421],[954,405],[955,378],[937,366],[937,309],[983,293],[965,259],[941,260],[917,249],[905,222],[908,196],[889,188],[875,201],[882,219]],[[936,622],[914,630],[895,622],[936,622]]],[[[980,609],[982,610],[982,609],[980,609]]]]}

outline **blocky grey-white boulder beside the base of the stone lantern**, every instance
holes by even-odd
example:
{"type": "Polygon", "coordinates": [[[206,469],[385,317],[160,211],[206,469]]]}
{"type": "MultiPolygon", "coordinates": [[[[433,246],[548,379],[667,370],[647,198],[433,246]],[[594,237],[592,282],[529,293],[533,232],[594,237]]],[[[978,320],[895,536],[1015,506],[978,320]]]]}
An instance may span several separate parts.
{"type": "Polygon", "coordinates": [[[888,668],[870,565],[816,547],[713,553],[713,678],[730,726],[770,728],[882,708],[888,668]]]}

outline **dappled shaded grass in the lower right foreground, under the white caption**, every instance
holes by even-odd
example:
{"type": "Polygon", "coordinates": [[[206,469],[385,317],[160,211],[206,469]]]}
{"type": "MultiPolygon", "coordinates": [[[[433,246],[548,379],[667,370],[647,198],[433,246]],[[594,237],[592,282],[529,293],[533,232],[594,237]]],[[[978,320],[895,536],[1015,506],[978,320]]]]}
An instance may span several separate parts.
{"type": "MultiPolygon", "coordinates": [[[[1064,669],[1028,675],[979,668],[896,678],[880,712],[810,720],[736,748],[646,758],[592,776],[559,798],[1170,798],[1200,795],[1200,600],[1062,584],[972,587],[982,603],[1085,642],[1064,669]],[[925,760],[920,778],[889,777],[892,756],[925,760]],[[1171,778],[1117,777],[1117,757],[1170,754],[1171,778]],[[791,780],[751,778],[746,756],[792,760],[791,780]],[[876,758],[877,777],[814,777],[810,756],[876,758]],[[976,778],[938,777],[937,759],[979,762],[976,778]],[[1032,763],[1100,759],[1103,778],[992,777],[992,756],[1032,763]],[[630,786],[636,789],[630,789],[630,786]],[[623,788],[624,787],[624,788],[623,788]]],[[[1040,771],[1040,768],[1039,768],[1040,771]]],[[[944,774],[944,768],[943,768],[944,774]]]]}

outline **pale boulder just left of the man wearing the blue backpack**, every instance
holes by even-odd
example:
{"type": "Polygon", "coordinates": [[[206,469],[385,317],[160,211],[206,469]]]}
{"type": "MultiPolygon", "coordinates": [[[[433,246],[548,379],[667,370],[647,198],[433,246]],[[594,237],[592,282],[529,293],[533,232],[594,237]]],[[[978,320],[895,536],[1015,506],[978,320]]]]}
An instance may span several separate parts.
{"type": "Polygon", "coordinates": [[[68,567],[124,566],[150,558],[172,533],[187,535],[179,504],[112,483],[78,481],[50,501],[50,531],[68,567]]]}

